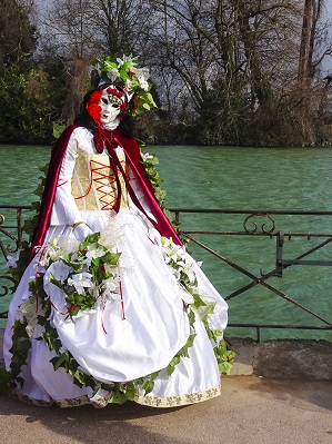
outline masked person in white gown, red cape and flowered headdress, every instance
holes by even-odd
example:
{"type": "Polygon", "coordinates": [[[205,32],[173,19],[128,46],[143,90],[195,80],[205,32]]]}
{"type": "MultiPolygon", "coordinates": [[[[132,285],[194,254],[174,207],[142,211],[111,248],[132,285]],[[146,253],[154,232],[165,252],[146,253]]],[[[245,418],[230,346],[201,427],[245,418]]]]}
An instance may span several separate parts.
{"type": "MultiPolygon", "coordinates": [[[[99,86],[50,160],[30,263],[10,303],[11,395],[61,407],[154,407],[220,394],[227,304],[160,207],[130,116],[154,106],[135,59],[99,86]]],[[[227,373],[227,372],[225,372],[227,373]]]]}

